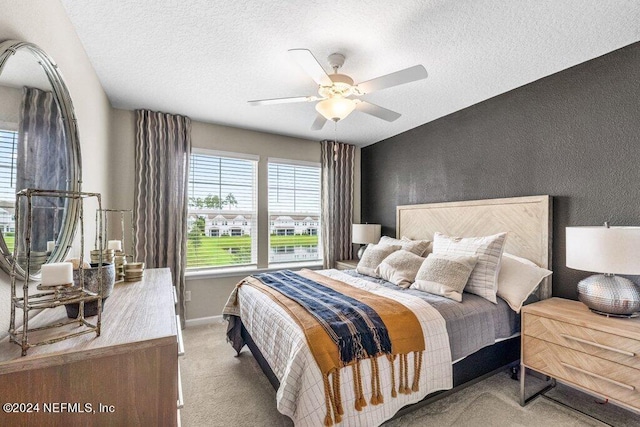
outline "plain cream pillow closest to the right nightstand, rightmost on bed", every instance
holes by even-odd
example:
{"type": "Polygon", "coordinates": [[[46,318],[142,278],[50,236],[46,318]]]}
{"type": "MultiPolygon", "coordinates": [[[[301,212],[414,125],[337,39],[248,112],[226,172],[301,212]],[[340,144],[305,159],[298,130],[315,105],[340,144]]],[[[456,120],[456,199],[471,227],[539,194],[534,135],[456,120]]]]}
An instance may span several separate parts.
{"type": "Polygon", "coordinates": [[[498,296],[505,300],[513,311],[520,313],[522,304],[529,295],[535,291],[542,279],[552,273],[528,259],[505,252],[498,275],[498,296]]]}

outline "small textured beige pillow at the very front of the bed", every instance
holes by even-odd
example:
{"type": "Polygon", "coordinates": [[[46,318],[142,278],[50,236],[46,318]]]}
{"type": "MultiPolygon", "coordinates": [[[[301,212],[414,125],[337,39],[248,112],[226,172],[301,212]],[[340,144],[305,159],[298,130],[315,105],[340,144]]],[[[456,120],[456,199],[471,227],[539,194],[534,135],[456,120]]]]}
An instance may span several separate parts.
{"type": "Polygon", "coordinates": [[[429,254],[420,266],[411,289],[461,302],[462,291],[477,262],[477,256],[429,254]]]}

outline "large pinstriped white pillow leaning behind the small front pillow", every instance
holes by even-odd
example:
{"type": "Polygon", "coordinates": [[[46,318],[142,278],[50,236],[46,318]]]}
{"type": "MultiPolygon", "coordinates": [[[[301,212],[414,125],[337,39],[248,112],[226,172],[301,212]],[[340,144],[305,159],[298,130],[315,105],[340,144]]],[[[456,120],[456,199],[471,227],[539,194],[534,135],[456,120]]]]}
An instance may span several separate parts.
{"type": "Polygon", "coordinates": [[[435,233],[433,237],[434,254],[458,256],[477,256],[478,262],[469,276],[466,292],[476,294],[497,304],[498,273],[500,259],[507,240],[507,233],[498,233],[485,237],[449,237],[435,233]]]}

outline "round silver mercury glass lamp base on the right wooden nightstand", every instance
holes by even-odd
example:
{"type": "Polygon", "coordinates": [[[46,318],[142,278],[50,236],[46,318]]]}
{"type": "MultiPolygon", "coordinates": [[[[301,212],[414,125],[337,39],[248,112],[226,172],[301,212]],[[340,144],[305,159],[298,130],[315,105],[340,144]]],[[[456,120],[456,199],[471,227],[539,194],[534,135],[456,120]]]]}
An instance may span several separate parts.
{"type": "Polygon", "coordinates": [[[640,311],[640,287],[621,276],[596,274],[581,280],[578,299],[604,316],[636,317],[640,311]]]}

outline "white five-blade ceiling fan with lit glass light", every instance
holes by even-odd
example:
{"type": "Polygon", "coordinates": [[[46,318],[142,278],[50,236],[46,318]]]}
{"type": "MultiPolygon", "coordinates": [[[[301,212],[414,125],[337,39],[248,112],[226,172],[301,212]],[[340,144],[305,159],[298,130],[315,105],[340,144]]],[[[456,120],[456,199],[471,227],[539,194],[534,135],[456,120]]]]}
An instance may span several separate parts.
{"type": "Polygon", "coordinates": [[[308,49],[290,49],[291,57],[318,84],[318,95],[295,96],[290,98],[260,99],[249,101],[251,105],[286,104],[291,102],[316,102],[318,115],[311,126],[313,130],[320,130],[327,122],[335,122],[347,117],[353,110],[358,110],[382,120],[392,122],[400,117],[400,113],[364,101],[359,97],[377,90],[426,79],[427,70],[422,65],[405,68],[395,73],[386,74],[354,84],[351,77],[339,74],[338,69],[344,64],[345,57],[340,53],[332,53],[327,60],[333,69],[333,74],[327,74],[318,60],[308,49]]]}

